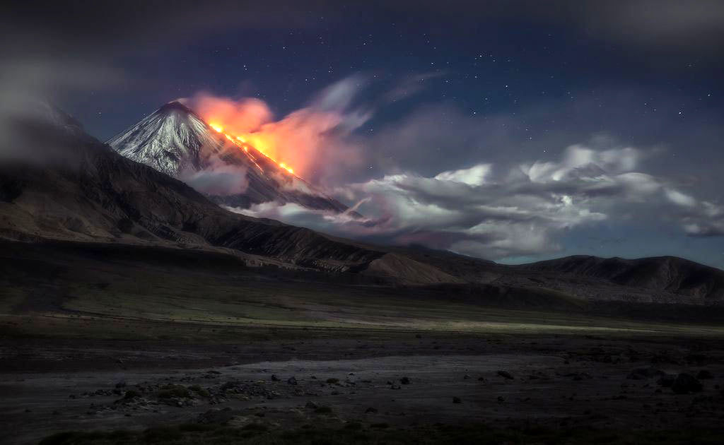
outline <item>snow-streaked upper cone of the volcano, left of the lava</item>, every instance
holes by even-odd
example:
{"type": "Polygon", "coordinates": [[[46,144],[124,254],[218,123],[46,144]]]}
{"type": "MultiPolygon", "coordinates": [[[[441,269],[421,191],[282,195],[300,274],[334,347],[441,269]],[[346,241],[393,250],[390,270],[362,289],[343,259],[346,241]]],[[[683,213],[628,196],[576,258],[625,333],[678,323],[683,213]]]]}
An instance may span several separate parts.
{"type": "Polygon", "coordinates": [[[114,136],[108,144],[126,158],[175,177],[181,171],[202,169],[204,145],[218,148],[222,141],[201,117],[172,101],[114,136]]]}

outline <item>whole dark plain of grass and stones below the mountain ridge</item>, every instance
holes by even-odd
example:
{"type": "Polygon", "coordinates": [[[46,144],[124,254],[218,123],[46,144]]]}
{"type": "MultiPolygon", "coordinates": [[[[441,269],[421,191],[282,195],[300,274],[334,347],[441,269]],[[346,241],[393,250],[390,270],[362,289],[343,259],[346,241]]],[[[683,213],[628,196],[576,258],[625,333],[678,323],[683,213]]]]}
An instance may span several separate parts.
{"type": "Polygon", "coordinates": [[[4,247],[2,443],[724,439],[717,306],[395,286],[157,247],[4,247]]]}

